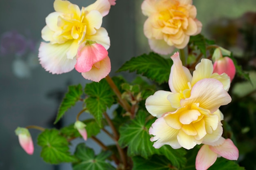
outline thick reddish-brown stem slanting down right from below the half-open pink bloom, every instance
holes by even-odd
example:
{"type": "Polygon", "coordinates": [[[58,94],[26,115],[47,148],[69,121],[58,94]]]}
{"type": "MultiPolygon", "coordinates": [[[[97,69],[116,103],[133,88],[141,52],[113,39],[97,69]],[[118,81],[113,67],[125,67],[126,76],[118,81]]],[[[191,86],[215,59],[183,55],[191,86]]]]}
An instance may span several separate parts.
{"type": "Polygon", "coordinates": [[[117,88],[115,83],[113,82],[112,78],[108,75],[105,79],[108,82],[108,84],[110,85],[110,87],[112,88],[112,90],[114,91],[114,93],[117,95],[121,106],[127,112],[130,112],[130,104],[128,104],[128,102],[121,97],[121,92],[119,91],[119,89],[117,88]]]}

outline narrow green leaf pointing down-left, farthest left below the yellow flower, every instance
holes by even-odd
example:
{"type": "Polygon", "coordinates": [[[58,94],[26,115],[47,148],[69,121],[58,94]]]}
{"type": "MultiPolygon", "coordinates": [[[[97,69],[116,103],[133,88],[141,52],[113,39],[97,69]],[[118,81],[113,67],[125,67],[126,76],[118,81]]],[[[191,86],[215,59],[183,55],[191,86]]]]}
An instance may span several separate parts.
{"type": "Polygon", "coordinates": [[[74,106],[77,101],[79,101],[81,95],[83,94],[83,89],[81,84],[73,85],[68,87],[68,92],[66,93],[63,101],[61,102],[61,106],[58,109],[58,114],[54,124],[56,124],[61,117],[65,114],[65,112],[74,106]]]}

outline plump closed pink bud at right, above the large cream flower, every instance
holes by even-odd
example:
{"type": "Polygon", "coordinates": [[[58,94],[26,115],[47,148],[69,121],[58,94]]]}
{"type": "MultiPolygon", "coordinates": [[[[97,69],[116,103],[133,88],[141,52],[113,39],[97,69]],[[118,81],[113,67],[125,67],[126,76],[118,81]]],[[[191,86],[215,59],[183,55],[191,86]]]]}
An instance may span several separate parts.
{"type": "Polygon", "coordinates": [[[213,64],[213,73],[226,73],[230,77],[230,81],[232,81],[236,74],[236,68],[233,60],[229,57],[219,58],[213,64]]]}

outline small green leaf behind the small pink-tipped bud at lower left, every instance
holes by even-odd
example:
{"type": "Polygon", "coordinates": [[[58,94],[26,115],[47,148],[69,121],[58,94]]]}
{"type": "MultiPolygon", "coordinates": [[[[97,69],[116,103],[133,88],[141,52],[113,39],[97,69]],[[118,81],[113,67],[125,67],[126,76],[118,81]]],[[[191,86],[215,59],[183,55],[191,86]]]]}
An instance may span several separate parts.
{"type": "MultiPolygon", "coordinates": [[[[86,131],[87,131],[87,137],[90,138],[92,136],[96,136],[101,128],[95,121],[95,119],[88,119],[83,121],[83,123],[86,124],[86,131]]],[[[71,124],[70,126],[66,126],[64,128],[61,128],[61,134],[65,136],[67,139],[72,139],[76,137],[81,137],[80,133],[78,132],[77,129],[74,128],[74,124],[71,124]]]]}

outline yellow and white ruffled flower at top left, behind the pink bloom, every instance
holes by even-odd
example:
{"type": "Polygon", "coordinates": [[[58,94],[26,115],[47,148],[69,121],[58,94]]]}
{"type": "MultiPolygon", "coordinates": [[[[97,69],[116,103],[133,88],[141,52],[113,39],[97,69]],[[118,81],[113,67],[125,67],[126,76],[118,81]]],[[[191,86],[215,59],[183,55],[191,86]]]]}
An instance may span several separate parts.
{"type": "Polygon", "coordinates": [[[67,73],[76,64],[79,45],[86,40],[101,44],[106,49],[110,39],[106,29],[101,27],[103,16],[110,10],[108,0],[97,0],[80,10],[67,0],[54,1],[55,12],[46,18],[39,48],[40,64],[53,74],[67,73]]]}

